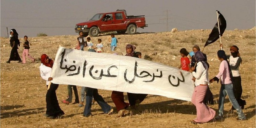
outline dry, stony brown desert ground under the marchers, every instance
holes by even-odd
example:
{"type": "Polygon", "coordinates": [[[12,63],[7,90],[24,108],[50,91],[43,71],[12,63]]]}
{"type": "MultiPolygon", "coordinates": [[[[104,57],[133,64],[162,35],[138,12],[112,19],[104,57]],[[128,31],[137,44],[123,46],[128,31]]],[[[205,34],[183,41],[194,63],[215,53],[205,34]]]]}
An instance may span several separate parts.
{"type": "MultiPolygon", "coordinates": [[[[19,30],[17,30],[19,32],[19,30]]],[[[137,33],[135,35],[116,35],[118,46],[116,52],[125,54],[125,45],[132,44],[137,47],[142,56],[149,56],[145,59],[163,63],[172,67],[179,67],[180,49],[186,48],[192,51],[194,45],[199,45],[201,50],[208,39],[211,30],[187,30],[180,32],[161,33],[137,33]]],[[[20,35],[20,41],[24,35],[20,35]]],[[[242,77],[243,94],[242,99],[246,100],[244,113],[247,120],[236,120],[236,111],[230,111],[231,103],[226,97],[224,104],[224,118],[222,121],[209,122],[204,124],[191,124],[190,121],[196,118],[196,107],[188,101],[171,99],[163,96],[148,95],[138,109],[125,117],[117,118],[117,111],[111,100],[111,91],[99,90],[99,94],[108,104],[114,108],[112,115],[102,114],[100,106],[92,105],[92,117],[81,118],[84,107],[78,108],[78,104],[63,104],[61,100],[66,99],[67,85],[60,85],[57,89],[57,97],[60,108],[65,115],[60,119],[49,119],[44,117],[46,111],[46,86],[45,81],[40,77],[40,56],[46,53],[55,58],[59,46],[74,48],[77,35],[28,37],[30,41],[29,53],[36,58],[35,63],[27,58],[27,64],[12,61],[9,59],[11,47],[9,39],[1,37],[1,127],[3,128],[126,128],[126,127],[188,127],[188,128],[219,128],[219,127],[255,127],[255,27],[248,30],[225,31],[221,37],[224,50],[230,54],[229,47],[239,47],[243,59],[240,66],[242,77]]],[[[92,37],[91,37],[92,38],[92,37]]],[[[97,39],[102,39],[104,53],[110,52],[109,34],[101,34],[93,37],[94,45],[97,39]]],[[[204,53],[210,64],[209,78],[213,78],[219,71],[220,61],[217,57],[220,39],[213,44],[206,46],[204,53]]],[[[18,50],[22,57],[23,47],[18,50]]],[[[80,98],[81,86],[78,87],[80,98]]],[[[210,84],[214,96],[214,105],[210,105],[215,111],[218,110],[218,99],[220,84],[210,84]]],[[[74,95],[74,94],[73,94],[74,95]]],[[[127,95],[125,101],[128,102],[127,95]]],[[[73,101],[74,102],[74,96],[73,101]]],[[[217,112],[216,112],[217,113],[217,112]]]]}

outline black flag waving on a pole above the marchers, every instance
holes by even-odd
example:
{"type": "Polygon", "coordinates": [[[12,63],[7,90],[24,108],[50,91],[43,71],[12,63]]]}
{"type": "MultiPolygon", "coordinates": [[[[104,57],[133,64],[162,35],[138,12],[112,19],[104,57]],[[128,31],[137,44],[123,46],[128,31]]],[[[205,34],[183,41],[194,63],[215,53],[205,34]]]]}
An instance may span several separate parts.
{"type": "Polygon", "coordinates": [[[204,46],[207,46],[209,44],[212,44],[213,42],[215,42],[217,39],[220,38],[220,36],[222,36],[222,34],[224,33],[226,27],[227,27],[227,22],[225,20],[225,18],[223,17],[223,15],[218,11],[219,15],[219,24],[220,24],[220,33],[219,33],[219,29],[218,29],[218,22],[214,25],[212,32],[209,35],[209,38],[207,39],[206,43],[204,46]],[[220,36],[219,36],[220,34],[220,36]]]}

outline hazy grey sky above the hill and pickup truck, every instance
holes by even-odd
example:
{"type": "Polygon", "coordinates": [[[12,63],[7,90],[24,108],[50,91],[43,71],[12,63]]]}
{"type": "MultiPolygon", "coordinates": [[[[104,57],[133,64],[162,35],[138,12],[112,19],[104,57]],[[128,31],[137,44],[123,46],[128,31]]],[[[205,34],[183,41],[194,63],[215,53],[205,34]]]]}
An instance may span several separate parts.
{"type": "Polygon", "coordinates": [[[42,32],[78,35],[77,23],[117,9],[126,10],[127,15],[145,15],[148,27],[137,32],[212,29],[216,10],[226,19],[226,30],[255,26],[255,0],[1,0],[0,36],[7,37],[6,27],[8,32],[16,29],[20,37],[36,37],[42,32]]]}

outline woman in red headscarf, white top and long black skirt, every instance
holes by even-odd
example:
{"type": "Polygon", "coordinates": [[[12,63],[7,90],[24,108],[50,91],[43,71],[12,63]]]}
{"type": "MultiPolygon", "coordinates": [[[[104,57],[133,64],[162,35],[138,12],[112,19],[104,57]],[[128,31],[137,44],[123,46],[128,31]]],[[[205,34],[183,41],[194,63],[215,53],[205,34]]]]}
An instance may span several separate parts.
{"type": "MultiPolygon", "coordinates": [[[[47,88],[48,88],[48,85],[50,84],[50,81],[52,81],[52,77],[51,77],[52,66],[53,66],[53,61],[49,59],[49,57],[46,54],[43,54],[41,56],[41,65],[39,69],[40,69],[41,78],[46,81],[47,88]]],[[[58,89],[58,87],[59,87],[59,84],[51,83],[50,88],[47,90],[46,114],[44,115],[45,117],[59,118],[65,114],[63,110],[60,109],[60,106],[57,100],[56,90],[58,89]]]]}

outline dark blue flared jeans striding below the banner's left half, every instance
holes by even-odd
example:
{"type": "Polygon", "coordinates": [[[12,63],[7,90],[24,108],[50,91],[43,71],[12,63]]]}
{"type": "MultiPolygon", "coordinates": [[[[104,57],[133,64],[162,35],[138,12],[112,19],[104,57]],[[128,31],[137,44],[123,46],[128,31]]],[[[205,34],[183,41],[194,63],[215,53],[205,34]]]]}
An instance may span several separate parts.
{"type": "Polygon", "coordinates": [[[100,105],[101,109],[105,114],[107,114],[108,111],[111,110],[111,106],[108,105],[108,103],[104,101],[102,96],[99,95],[98,89],[87,87],[85,95],[84,116],[88,117],[91,115],[92,97],[100,105]]]}

